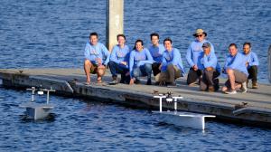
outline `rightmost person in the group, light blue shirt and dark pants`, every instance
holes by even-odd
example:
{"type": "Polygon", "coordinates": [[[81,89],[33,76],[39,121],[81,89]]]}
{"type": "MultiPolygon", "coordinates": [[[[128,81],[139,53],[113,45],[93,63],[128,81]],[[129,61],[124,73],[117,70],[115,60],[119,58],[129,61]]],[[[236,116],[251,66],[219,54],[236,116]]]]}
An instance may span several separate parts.
{"type": "MultiPolygon", "coordinates": [[[[246,65],[248,68],[248,80],[252,81],[252,88],[257,89],[257,54],[255,52],[251,52],[251,43],[243,44],[243,54],[246,56],[246,65]]],[[[248,82],[247,82],[248,83],[248,82]]],[[[248,84],[247,84],[248,85],[248,84]]]]}

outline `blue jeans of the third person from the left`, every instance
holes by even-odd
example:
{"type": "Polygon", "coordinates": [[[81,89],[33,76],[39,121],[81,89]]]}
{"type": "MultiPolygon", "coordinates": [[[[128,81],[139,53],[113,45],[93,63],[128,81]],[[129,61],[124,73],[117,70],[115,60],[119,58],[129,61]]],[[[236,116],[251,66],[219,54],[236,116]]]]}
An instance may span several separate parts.
{"type": "Polygon", "coordinates": [[[150,63],[145,63],[145,65],[141,65],[139,67],[136,67],[133,71],[135,79],[137,77],[143,77],[147,76],[148,80],[151,80],[152,78],[152,64],[150,63]]]}

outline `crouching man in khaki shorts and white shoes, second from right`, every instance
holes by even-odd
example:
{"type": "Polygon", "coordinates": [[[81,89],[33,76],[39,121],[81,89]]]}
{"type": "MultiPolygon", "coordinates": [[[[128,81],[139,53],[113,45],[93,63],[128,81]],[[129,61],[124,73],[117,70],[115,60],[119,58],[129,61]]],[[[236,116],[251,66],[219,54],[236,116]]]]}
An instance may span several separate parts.
{"type": "Polygon", "coordinates": [[[222,91],[227,94],[236,94],[236,90],[241,88],[242,92],[247,92],[248,70],[246,57],[238,52],[235,43],[229,44],[229,55],[227,55],[223,71],[228,75],[229,79],[225,82],[222,91]]]}

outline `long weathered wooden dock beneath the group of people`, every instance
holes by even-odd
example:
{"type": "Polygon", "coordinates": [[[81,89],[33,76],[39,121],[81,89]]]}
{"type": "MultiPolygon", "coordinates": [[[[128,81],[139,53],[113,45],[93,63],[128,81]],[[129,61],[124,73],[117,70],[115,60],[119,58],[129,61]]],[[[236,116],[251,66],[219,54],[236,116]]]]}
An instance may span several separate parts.
{"type": "MultiPolygon", "coordinates": [[[[147,86],[143,80],[137,85],[108,85],[109,72],[103,78],[104,83],[97,84],[96,76],[91,75],[91,84],[86,80],[82,69],[2,69],[0,79],[3,86],[12,88],[40,87],[56,90],[60,95],[86,97],[91,100],[103,100],[145,109],[159,109],[159,101],[153,96],[171,91],[174,96],[182,95],[178,109],[217,116],[218,119],[244,124],[271,127],[271,86],[260,84],[259,89],[250,89],[248,93],[234,95],[218,92],[203,92],[199,86],[189,87],[185,78],[177,81],[177,87],[147,86]]],[[[220,86],[222,82],[220,81],[220,86]]],[[[173,105],[164,107],[173,108],[173,105]]]]}

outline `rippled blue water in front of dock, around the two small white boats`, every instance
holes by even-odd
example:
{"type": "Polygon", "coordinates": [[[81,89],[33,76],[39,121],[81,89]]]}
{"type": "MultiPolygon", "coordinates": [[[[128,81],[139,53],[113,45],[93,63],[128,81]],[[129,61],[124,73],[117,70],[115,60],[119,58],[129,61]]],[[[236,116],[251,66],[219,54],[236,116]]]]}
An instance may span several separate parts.
{"type": "MultiPolygon", "coordinates": [[[[51,96],[54,119],[23,119],[31,92],[0,88],[1,151],[267,151],[271,131],[207,122],[205,132],[157,121],[144,109],[51,96]]],[[[45,100],[45,96],[37,100],[45,100]]]]}

